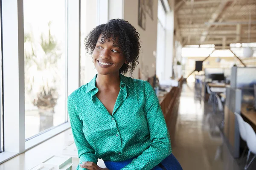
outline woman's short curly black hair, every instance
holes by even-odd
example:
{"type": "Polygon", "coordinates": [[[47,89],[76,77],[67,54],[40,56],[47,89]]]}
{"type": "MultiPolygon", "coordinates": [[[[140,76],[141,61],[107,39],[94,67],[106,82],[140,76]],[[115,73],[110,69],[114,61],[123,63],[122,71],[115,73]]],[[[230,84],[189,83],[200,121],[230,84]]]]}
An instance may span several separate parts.
{"type": "Polygon", "coordinates": [[[85,50],[90,54],[96,46],[99,36],[102,34],[101,41],[113,41],[124,55],[128,64],[122,65],[119,73],[125,74],[130,68],[130,73],[134,71],[135,66],[139,63],[138,58],[140,54],[140,34],[136,29],[125,20],[112,19],[106,24],[101,24],[94,28],[84,39],[85,50]],[[110,39],[111,38],[111,39],[110,39]]]}

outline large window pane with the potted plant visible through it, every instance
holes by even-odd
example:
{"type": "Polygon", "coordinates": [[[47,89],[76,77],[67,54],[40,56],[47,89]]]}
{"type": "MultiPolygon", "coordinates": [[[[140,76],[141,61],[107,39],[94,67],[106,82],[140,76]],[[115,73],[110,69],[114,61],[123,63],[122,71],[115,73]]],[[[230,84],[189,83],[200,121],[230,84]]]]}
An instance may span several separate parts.
{"type": "Polygon", "coordinates": [[[23,0],[26,139],[67,122],[66,2],[23,0]]]}

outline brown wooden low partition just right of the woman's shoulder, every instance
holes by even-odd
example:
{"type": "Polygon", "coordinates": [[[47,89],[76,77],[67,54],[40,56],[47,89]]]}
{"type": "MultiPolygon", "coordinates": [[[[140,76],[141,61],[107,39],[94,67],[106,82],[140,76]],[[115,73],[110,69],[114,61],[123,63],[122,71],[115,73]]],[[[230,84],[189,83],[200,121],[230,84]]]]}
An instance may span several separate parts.
{"type": "Polygon", "coordinates": [[[172,87],[169,93],[167,93],[160,101],[160,106],[169,129],[172,146],[175,145],[175,127],[180,104],[182,82],[183,77],[179,79],[179,85],[177,87],[172,87]]]}

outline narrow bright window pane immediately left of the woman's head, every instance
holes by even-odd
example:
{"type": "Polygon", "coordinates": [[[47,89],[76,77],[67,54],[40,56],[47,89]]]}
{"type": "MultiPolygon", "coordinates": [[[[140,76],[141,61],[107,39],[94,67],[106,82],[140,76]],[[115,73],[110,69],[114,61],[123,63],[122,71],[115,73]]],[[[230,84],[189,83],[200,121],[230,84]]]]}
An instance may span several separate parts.
{"type": "Polygon", "coordinates": [[[84,38],[97,26],[97,0],[81,0],[81,85],[90,82],[97,74],[90,54],[84,49],[84,38]]]}

